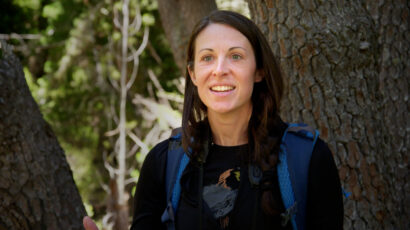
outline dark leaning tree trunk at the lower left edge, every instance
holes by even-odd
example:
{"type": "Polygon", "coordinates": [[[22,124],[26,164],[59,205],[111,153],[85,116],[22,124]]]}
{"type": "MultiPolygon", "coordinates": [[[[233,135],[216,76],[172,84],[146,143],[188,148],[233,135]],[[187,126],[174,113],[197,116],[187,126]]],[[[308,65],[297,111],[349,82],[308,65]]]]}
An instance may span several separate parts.
{"type": "Polygon", "coordinates": [[[64,151],[1,43],[0,229],[82,229],[86,214],[64,151]]]}

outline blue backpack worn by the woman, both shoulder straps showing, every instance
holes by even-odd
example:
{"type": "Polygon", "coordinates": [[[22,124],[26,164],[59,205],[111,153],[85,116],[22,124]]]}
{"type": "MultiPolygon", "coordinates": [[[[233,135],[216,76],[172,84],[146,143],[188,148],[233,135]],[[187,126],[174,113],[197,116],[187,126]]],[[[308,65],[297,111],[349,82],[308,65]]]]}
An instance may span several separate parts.
{"type": "MultiPolygon", "coordinates": [[[[304,230],[306,223],[307,183],[310,157],[319,132],[305,124],[289,124],[279,151],[277,174],[282,201],[286,211],[281,214],[282,225],[290,220],[294,230],[304,230]]],[[[181,146],[181,133],[170,138],[167,155],[165,188],[167,207],[161,217],[167,229],[175,229],[175,214],[181,195],[180,179],[189,157],[181,146]]],[[[251,181],[251,183],[253,183],[251,181]]]]}

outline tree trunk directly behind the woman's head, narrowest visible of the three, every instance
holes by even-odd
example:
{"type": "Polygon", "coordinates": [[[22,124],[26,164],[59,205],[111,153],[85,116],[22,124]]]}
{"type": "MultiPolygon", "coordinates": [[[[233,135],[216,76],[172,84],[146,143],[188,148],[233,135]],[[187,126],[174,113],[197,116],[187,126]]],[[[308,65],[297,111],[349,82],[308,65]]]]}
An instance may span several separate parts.
{"type": "Polygon", "coordinates": [[[184,75],[191,31],[195,23],[217,9],[215,0],[158,0],[158,9],[175,62],[184,75]]]}

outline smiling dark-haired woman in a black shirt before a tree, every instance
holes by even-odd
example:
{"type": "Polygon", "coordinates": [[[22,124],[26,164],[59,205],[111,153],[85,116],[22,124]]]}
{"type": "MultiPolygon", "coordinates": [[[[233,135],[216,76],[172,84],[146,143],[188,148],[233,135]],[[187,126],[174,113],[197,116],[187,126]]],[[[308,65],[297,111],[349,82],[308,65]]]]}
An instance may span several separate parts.
{"type": "MultiPolygon", "coordinates": [[[[182,146],[190,161],[176,229],[292,229],[276,167],[287,124],[279,117],[281,74],[257,26],[215,11],[194,28],[188,44],[182,146]],[[207,151],[204,151],[207,149],[207,151]],[[249,181],[249,165],[263,172],[249,181]]],[[[165,170],[169,140],[147,155],[135,195],[131,229],[166,229],[165,170]]],[[[343,202],[332,154],[318,140],[308,172],[307,229],[342,229],[343,202]]]]}

